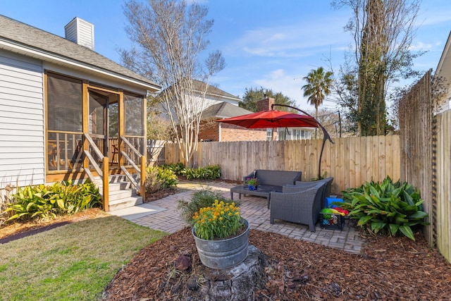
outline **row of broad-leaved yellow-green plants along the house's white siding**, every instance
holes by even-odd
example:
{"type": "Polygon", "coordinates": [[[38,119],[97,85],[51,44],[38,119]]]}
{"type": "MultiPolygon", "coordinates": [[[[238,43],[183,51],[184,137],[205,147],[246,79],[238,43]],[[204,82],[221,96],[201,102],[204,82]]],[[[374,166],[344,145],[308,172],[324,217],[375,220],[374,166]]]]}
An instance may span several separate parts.
{"type": "Polygon", "coordinates": [[[53,185],[18,187],[11,195],[12,203],[6,211],[13,215],[8,219],[49,219],[57,215],[75,214],[78,211],[101,207],[99,189],[93,183],[72,185],[64,181],[53,185]]]}

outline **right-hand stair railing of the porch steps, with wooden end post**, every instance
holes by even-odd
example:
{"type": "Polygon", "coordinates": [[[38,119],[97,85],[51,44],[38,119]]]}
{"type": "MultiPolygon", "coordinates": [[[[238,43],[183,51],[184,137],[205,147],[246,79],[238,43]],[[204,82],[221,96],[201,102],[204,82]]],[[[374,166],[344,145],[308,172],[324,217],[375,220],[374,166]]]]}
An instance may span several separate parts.
{"type": "Polygon", "coordinates": [[[125,173],[125,176],[127,176],[128,180],[130,180],[130,183],[135,186],[136,190],[140,192],[142,199],[145,199],[146,189],[144,187],[144,181],[146,180],[146,158],[130,143],[130,141],[128,141],[126,137],[121,136],[121,140],[125,143],[125,145],[128,146],[128,149],[130,149],[132,155],[136,156],[140,160],[139,167],[135,164],[135,161],[133,161],[130,156],[128,156],[127,153],[121,150],[121,156],[128,162],[128,164],[130,164],[130,166],[132,166],[132,168],[135,169],[137,173],[140,174],[140,183],[138,183],[137,180],[130,175],[125,166],[121,165],[121,170],[123,171],[123,173],[125,173]]]}

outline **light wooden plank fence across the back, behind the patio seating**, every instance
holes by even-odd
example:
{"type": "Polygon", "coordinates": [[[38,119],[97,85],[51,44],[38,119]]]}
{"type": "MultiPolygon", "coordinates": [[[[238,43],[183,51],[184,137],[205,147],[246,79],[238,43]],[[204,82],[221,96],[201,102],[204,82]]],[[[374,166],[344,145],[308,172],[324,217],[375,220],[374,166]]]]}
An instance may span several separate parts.
{"type": "MultiPolygon", "coordinates": [[[[302,180],[318,177],[322,140],[202,142],[193,166],[218,164],[221,178],[242,180],[254,169],[302,171],[302,180]]],[[[321,176],[333,176],[333,194],[382,181],[400,178],[398,135],[346,137],[326,142],[321,159],[321,176]]],[[[166,164],[183,160],[175,143],[165,146],[166,164]]]]}

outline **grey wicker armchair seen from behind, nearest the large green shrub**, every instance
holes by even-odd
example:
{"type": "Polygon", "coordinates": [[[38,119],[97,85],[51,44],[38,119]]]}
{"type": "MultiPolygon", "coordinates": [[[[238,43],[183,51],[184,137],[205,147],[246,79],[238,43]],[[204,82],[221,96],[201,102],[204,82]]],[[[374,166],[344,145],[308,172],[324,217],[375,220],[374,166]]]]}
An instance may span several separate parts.
{"type": "Polygon", "coordinates": [[[322,208],[322,197],[326,182],[321,181],[313,187],[303,188],[296,185],[283,186],[283,192],[271,192],[270,223],[274,219],[303,223],[315,232],[315,224],[322,208]]]}

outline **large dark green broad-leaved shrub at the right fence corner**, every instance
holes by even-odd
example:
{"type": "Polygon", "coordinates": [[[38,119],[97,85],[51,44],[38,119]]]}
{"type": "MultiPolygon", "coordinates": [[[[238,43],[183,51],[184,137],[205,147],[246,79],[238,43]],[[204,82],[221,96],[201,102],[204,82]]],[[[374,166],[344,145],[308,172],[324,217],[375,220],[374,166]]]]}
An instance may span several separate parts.
{"type": "Polygon", "coordinates": [[[399,234],[414,239],[413,231],[419,230],[428,216],[423,210],[420,192],[406,182],[393,183],[390,177],[381,184],[365,183],[359,188],[342,192],[344,202],[340,207],[350,211],[350,218],[357,219],[357,226],[373,233],[395,236],[399,234]]]}

